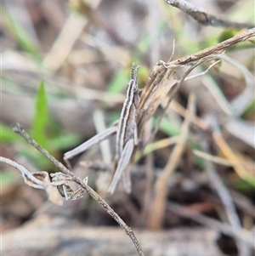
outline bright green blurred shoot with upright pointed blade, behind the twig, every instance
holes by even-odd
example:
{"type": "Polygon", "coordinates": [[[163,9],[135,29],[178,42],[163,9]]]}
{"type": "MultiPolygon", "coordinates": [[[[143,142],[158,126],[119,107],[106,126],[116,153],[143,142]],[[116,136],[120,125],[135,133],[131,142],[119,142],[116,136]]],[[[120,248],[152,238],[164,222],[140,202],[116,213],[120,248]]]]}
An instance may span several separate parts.
{"type": "MultiPolygon", "coordinates": [[[[31,150],[30,145],[17,134],[14,134],[12,128],[4,124],[0,124],[1,142],[15,143],[16,149],[26,156],[32,163],[34,163],[41,170],[52,168],[52,163],[48,161],[36,150],[31,150]]],[[[39,82],[37,89],[37,96],[35,102],[35,111],[32,122],[32,129],[30,134],[33,139],[51,154],[56,154],[59,150],[65,150],[77,145],[80,142],[76,134],[65,134],[54,120],[50,118],[48,111],[48,100],[45,91],[44,82],[39,82]]]]}

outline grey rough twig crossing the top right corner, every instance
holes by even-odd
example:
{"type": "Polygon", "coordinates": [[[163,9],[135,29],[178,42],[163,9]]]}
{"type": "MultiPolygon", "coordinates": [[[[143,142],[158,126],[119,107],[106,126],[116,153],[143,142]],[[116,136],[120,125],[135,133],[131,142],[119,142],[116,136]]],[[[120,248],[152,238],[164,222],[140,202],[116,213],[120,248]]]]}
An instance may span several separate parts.
{"type": "Polygon", "coordinates": [[[206,12],[196,9],[194,5],[184,0],[165,0],[165,2],[190,15],[191,18],[203,26],[230,26],[238,29],[252,28],[254,26],[254,24],[250,23],[239,23],[229,20],[222,20],[212,14],[207,14],[206,12]]]}

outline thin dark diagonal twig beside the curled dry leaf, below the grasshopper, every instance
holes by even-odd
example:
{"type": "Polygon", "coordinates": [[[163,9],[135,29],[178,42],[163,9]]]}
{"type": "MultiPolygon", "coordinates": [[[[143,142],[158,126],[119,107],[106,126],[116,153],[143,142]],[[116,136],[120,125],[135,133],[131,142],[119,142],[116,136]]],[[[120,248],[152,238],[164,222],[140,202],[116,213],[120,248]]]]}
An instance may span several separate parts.
{"type": "Polygon", "coordinates": [[[40,145],[38,145],[37,142],[34,139],[31,139],[31,137],[28,134],[26,134],[25,130],[22,128],[22,126],[19,123],[17,123],[16,126],[14,127],[14,132],[16,134],[20,134],[24,139],[26,139],[26,141],[29,144],[31,144],[33,147],[35,147],[37,149],[37,151],[40,151],[43,156],[46,156],[48,158],[48,160],[53,162],[54,166],[59,168],[59,170],[62,173],[67,174],[67,177],[68,176],[70,177],[69,181],[71,181],[71,180],[75,181],[77,183],[77,185],[80,185],[82,187],[82,189],[87,191],[88,194],[94,198],[94,200],[99,202],[99,204],[103,208],[105,208],[105,211],[108,214],[110,214],[111,217],[113,219],[115,219],[116,222],[125,230],[127,236],[129,236],[131,238],[131,240],[133,241],[133,244],[136,247],[139,255],[140,256],[144,255],[144,253],[142,251],[142,248],[140,247],[139,242],[138,242],[136,236],[134,236],[134,234],[133,234],[133,230],[126,225],[126,223],[118,216],[117,213],[115,213],[115,211],[107,204],[107,202],[105,202],[105,200],[101,196],[99,196],[99,194],[96,191],[94,191],[90,186],[88,186],[85,182],[83,182],[82,179],[80,179],[77,176],[75,176],[75,174],[73,174],[69,169],[65,168],[65,166],[61,162],[56,160],[54,158],[54,156],[51,156],[48,153],[48,151],[46,151],[40,145]]]}

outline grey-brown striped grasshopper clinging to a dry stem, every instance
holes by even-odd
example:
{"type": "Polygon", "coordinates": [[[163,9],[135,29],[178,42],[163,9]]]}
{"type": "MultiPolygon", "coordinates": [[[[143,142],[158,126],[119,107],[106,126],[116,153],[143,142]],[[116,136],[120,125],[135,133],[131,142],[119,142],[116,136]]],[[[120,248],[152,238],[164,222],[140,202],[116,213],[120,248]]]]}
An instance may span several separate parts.
{"type": "Polygon", "coordinates": [[[123,178],[125,191],[127,193],[131,192],[130,175],[127,172],[127,166],[133,154],[134,145],[138,145],[137,123],[135,120],[138,115],[137,109],[139,107],[138,70],[139,66],[135,67],[133,63],[130,81],[127,84],[126,100],[123,103],[121,117],[117,126],[113,126],[100,134],[96,134],[93,138],[88,139],[85,143],[79,145],[72,151],[66,152],[64,155],[65,162],[70,166],[68,160],[73,156],[77,156],[82,153],[82,151],[88,150],[89,147],[116,134],[115,174],[108,189],[111,193],[115,191],[116,185],[121,177],[123,178]]]}

